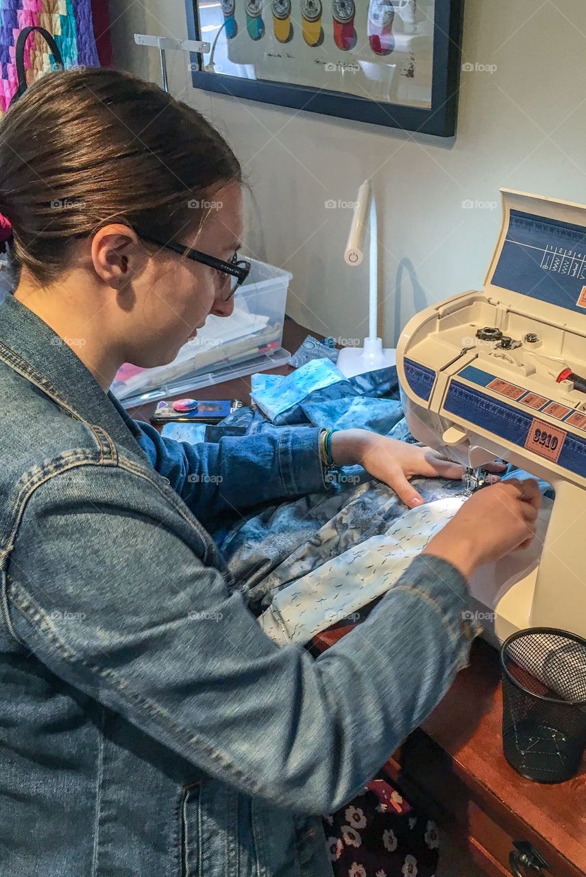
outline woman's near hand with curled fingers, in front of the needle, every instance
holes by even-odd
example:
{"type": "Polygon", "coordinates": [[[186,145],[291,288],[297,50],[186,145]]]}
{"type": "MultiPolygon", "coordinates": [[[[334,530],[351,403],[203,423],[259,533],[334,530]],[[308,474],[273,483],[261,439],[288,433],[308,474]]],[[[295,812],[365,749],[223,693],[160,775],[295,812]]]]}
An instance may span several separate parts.
{"type": "Polygon", "coordinates": [[[531,543],[540,506],[537,481],[499,481],[470,496],[422,553],[448,560],[469,578],[476,567],[531,543]]]}

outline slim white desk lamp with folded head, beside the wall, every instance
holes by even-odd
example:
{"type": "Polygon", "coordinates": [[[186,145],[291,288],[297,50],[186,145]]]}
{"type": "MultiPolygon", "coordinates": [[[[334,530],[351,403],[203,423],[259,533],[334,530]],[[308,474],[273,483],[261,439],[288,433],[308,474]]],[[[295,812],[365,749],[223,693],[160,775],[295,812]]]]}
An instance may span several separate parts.
{"type": "Polygon", "coordinates": [[[396,351],[382,347],[382,339],[376,334],[376,308],[378,304],[378,239],[376,235],[376,203],[370,181],[363,182],[358,190],[350,235],[344,253],[347,265],[358,266],[363,258],[364,236],[370,221],[370,269],[368,299],[368,337],[362,347],[344,347],[339,352],[336,366],[347,378],[354,374],[372,372],[376,368],[395,365],[396,351]]]}

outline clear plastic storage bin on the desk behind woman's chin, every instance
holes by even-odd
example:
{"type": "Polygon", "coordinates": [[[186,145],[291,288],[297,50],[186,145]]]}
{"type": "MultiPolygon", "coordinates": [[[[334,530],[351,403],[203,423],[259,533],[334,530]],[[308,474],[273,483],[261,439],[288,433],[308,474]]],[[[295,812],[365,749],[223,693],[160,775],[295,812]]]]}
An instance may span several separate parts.
{"type": "Polygon", "coordinates": [[[282,366],[282,326],[289,271],[250,260],[250,274],[234,296],[231,317],[207,318],[193,341],[183,345],[166,366],[118,369],[111,391],[125,408],[210,387],[243,374],[282,366]]]}

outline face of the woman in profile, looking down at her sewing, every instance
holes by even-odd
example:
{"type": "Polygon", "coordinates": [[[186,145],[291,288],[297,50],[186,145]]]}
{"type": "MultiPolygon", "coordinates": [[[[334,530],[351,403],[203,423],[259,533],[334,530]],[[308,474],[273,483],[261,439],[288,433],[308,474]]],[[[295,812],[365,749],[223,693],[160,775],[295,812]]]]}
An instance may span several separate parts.
{"type": "MultiPolygon", "coordinates": [[[[205,207],[208,216],[203,228],[195,235],[186,228],[174,242],[230,261],[242,239],[239,183],[226,185],[205,207]]],[[[229,295],[229,275],[179,253],[157,248],[156,255],[132,282],[133,337],[126,339],[132,348],[125,351],[126,361],[141,367],[173,361],[179,349],[196,337],[197,329],[209,314],[218,317],[232,314],[233,297],[225,301],[229,295]]],[[[120,306],[125,307],[122,296],[120,306]]]]}

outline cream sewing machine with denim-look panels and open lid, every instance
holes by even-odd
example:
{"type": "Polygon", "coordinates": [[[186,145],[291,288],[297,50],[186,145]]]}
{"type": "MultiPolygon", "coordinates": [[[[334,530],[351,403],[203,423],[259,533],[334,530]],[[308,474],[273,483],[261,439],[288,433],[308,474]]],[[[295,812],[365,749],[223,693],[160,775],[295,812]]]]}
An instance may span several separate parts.
{"type": "Polygon", "coordinates": [[[468,467],[503,458],[548,481],[532,545],[471,581],[487,638],[586,636],[586,206],[502,189],[482,291],[405,326],[397,371],[421,442],[468,467]]]}

